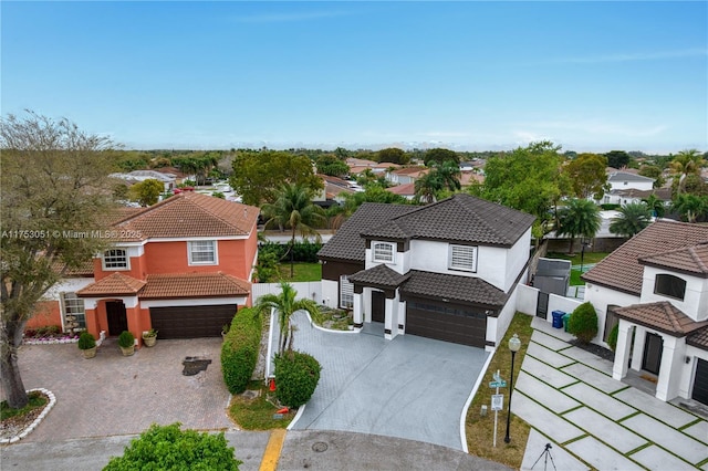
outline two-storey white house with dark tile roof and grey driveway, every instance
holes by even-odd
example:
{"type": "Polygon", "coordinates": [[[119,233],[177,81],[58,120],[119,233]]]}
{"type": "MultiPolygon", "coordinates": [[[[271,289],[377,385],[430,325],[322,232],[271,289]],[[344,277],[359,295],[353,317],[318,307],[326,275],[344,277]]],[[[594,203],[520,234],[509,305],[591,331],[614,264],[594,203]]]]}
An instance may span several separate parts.
{"type": "Polygon", "coordinates": [[[323,302],[388,339],[491,350],[528,275],[533,220],[465,193],[425,207],[364,203],[319,253],[323,302]]]}

